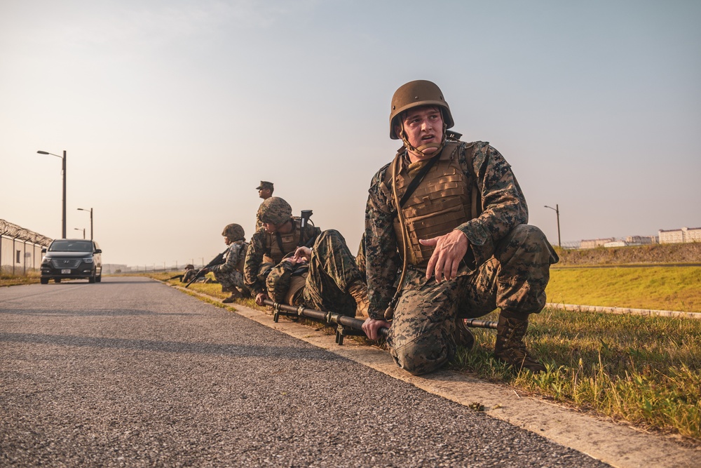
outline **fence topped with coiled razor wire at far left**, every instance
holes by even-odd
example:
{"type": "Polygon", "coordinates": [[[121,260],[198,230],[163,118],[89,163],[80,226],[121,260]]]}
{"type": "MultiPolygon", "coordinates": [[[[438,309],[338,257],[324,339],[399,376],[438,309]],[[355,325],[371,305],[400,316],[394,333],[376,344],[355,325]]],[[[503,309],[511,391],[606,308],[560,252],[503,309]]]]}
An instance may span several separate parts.
{"type": "Polygon", "coordinates": [[[27,274],[41,267],[41,248],[53,239],[0,220],[0,272],[27,274]]]}

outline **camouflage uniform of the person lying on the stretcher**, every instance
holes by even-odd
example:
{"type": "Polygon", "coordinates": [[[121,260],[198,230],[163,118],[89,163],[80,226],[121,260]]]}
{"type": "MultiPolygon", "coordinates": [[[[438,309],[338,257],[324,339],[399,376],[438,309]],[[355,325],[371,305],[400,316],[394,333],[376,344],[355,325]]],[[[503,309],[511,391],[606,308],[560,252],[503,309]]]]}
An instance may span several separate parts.
{"type": "Polygon", "coordinates": [[[349,290],[354,284],[362,283],[363,278],[340,232],[329,229],[317,237],[311,249],[308,272],[297,272],[306,275],[304,287],[287,300],[292,275],[298,268],[283,261],[272,269],[266,279],[271,300],[355,316],[356,302],[349,290]]]}

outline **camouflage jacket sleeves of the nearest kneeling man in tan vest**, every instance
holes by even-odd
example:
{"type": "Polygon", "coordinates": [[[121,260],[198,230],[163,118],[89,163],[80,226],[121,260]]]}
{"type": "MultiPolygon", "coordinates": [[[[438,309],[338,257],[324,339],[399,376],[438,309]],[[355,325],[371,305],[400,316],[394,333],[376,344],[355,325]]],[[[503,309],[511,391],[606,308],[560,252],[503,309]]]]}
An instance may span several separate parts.
{"type": "MultiPolygon", "coordinates": [[[[472,151],[471,158],[461,151],[458,163],[468,178],[468,187],[477,184],[482,214],[455,229],[465,233],[469,241],[468,254],[481,265],[494,255],[498,241],[515,226],[528,222],[528,208],[511,166],[496,149],[488,142],[475,142],[467,151],[472,151]]],[[[386,164],[372,178],[365,208],[368,314],[378,319],[383,317],[395,294],[395,281],[402,268],[393,225],[397,211],[380,187],[389,167],[390,164],[386,164]]]]}

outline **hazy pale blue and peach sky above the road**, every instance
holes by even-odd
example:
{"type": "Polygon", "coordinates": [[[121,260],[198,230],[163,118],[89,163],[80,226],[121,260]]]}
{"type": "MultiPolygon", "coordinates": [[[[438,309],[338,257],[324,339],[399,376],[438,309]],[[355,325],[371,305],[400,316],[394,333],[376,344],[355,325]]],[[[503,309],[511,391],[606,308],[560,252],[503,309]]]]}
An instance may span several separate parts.
{"type": "Polygon", "coordinates": [[[699,1],[0,0],[0,218],[179,265],[250,239],[260,180],[355,250],[399,146],[390,99],[442,88],[557,243],[701,227],[699,1]],[[79,231],[74,230],[80,229],[79,231]]]}

